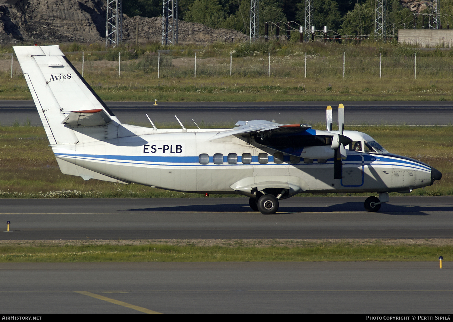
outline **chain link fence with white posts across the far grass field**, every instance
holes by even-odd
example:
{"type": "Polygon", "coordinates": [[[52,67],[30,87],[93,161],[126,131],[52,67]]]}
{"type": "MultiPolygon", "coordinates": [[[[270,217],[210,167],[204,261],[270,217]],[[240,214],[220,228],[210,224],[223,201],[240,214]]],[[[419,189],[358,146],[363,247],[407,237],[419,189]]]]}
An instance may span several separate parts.
{"type": "MultiPolygon", "coordinates": [[[[317,56],[297,53],[288,56],[256,55],[227,57],[175,56],[153,53],[140,56],[127,53],[67,53],[68,59],[84,77],[400,77],[451,78],[453,57],[317,56]]],[[[0,54],[0,77],[22,77],[15,56],[0,54]]]]}

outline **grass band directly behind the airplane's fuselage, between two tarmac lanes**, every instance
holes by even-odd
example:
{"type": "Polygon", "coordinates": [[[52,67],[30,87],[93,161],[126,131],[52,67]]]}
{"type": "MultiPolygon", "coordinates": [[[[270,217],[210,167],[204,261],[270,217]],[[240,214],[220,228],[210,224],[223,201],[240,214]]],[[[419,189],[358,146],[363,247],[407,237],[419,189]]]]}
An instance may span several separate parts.
{"type": "MultiPolygon", "coordinates": [[[[315,128],[323,126],[316,125],[315,128]]],[[[411,195],[453,195],[453,126],[349,126],[347,130],[365,132],[391,153],[420,160],[442,172],[439,183],[415,189],[411,195]]],[[[84,181],[65,175],[60,172],[40,126],[0,126],[0,142],[0,197],[3,198],[204,197],[203,194],[164,191],[133,183],[84,181]]]]}

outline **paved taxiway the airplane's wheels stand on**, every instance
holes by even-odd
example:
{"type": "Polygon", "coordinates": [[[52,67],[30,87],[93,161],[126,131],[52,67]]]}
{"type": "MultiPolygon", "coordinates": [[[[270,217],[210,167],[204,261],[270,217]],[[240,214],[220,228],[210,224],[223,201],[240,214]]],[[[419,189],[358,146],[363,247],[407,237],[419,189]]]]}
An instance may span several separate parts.
{"type": "Polygon", "coordinates": [[[0,199],[0,239],[453,238],[453,197],[293,197],[275,215],[248,198],[0,199]],[[6,228],[6,226],[5,226],[6,228]]]}

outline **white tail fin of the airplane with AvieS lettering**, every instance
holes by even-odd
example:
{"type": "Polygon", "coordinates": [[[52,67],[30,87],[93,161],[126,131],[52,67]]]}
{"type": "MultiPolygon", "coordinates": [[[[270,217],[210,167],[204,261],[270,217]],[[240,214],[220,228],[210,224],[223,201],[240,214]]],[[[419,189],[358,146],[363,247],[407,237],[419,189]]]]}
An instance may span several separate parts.
{"type": "Polygon", "coordinates": [[[14,47],[50,144],[77,143],[71,126],[120,121],[55,46],[14,47]]]}

